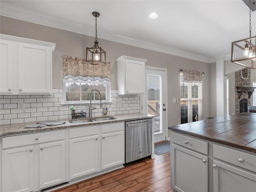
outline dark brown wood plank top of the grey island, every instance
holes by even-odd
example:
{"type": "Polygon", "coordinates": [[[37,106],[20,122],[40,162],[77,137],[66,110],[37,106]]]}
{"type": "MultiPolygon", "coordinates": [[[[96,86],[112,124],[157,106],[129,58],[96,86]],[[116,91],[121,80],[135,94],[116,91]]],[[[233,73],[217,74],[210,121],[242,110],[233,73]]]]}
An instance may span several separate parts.
{"type": "Polygon", "coordinates": [[[168,129],[256,153],[256,113],[239,113],[168,129]]]}

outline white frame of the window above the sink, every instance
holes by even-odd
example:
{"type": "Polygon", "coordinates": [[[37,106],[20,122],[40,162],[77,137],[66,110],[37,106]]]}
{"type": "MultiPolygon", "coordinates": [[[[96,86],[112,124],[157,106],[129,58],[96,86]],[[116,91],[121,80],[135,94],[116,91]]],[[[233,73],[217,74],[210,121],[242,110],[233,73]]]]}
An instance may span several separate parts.
{"type": "MultiPolygon", "coordinates": [[[[110,92],[110,82],[107,80],[73,80],[73,79],[63,79],[63,104],[90,104],[90,100],[84,101],[66,101],[66,83],[88,83],[88,84],[105,84],[106,85],[106,100],[101,100],[102,103],[111,103],[111,92],[110,92]]],[[[100,100],[92,100],[92,104],[98,104],[100,100]]]]}

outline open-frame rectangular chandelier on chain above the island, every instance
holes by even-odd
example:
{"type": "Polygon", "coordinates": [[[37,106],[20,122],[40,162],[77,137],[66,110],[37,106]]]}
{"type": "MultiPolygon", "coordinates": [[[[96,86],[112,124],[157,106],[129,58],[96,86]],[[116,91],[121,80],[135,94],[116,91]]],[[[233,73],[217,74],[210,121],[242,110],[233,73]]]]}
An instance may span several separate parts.
{"type": "Polygon", "coordinates": [[[249,32],[250,37],[242,40],[232,42],[231,48],[231,62],[248,67],[250,69],[256,69],[256,36],[251,36],[251,14],[252,5],[255,7],[255,1],[249,0],[249,32]]]}

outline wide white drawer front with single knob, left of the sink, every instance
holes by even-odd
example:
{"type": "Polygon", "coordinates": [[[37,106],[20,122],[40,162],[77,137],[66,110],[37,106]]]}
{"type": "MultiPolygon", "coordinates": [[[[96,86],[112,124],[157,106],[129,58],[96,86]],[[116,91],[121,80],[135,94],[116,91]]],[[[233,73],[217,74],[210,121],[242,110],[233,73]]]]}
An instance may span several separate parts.
{"type": "Polygon", "coordinates": [[[2,148],[31,145],[62,139],[65,139],[65,130],[4,137],[2,140],[2,148]]]}

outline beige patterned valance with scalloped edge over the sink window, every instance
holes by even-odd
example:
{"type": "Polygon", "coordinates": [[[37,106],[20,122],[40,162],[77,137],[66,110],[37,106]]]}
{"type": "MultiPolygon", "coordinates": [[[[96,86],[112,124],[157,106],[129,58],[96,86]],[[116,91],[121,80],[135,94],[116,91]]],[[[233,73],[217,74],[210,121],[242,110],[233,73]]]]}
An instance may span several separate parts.
{"type": "Polygon", "coordinates": [[[62,56],[63,78],[73,80],[110,81],[110,63],[106,65],[92,65],[85,58],[62,56]]]}

